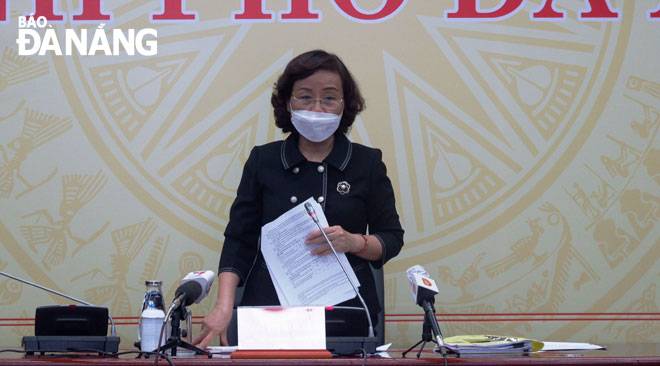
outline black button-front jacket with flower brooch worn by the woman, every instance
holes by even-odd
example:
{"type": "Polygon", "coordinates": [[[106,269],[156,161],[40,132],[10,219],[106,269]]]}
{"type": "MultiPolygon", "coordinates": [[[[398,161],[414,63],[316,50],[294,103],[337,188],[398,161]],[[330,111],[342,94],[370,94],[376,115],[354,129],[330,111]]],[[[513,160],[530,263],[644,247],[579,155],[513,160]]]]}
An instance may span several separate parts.
{"type": "MultiPolygon", "coordinates": [[[[268,268],[258,248],[261,227],[309,197],[323,207],[328,224],[350,233],[376,236],[383,257],[380,268],[403,246],[403,229],[394,204],[392,183],[382,153],[335,135],[332,152],[323,163],[307,161],[298,150],[298,136],[252,149],[231,206],[219,272],[236,273],[245,289],[241,305],[278,305],[268,268]],[[347,186],[340,183],[348,183],[347,186]],[[343,192],[344,194],[340,193],[343,192]]],[[[371,316],[380,311],[369,261],[346,253],[371,316]]],[[[354,298],[341,305],[361,306],[354,298]]]]}

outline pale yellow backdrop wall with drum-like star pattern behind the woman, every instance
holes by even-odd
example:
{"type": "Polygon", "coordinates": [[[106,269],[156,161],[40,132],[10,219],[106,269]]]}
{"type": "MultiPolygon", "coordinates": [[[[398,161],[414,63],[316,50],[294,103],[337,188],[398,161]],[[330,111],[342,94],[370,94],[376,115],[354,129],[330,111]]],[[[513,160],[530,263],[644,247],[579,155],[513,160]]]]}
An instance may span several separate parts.
{"type": "MultiPolygon", "coordinates": [[[[123,346],[144,280],[163,280],[169,301],[187,272],[216,270],[249,149],[281,138],[272,84],[312,48],[358,79],[367,110],[350,138],[383,150],[394,183],[395,348],[421,335],[413,264],[441,289],[445,335],[660,341],[657,0],[612,0],[614,21],[557,1],[567,19],[554,22],[530,20],[540,1],[456,22],[443,18],[453,1],[411,0],[374,23],[331,1],[313,2],[316,23],[236,23],[238,0],[189,0],[199,21],[172,24],[149,22],[160,1],[113,0],[106,29],[156,28],[157,56],[17,56],[32,3],[11,1],[0,24],[0,270],[109,307],[123,346]]],[[[21,324],[53,303],[68,301],[0,278],[0,345],[20,346],[33,332],[21,324]]]]}

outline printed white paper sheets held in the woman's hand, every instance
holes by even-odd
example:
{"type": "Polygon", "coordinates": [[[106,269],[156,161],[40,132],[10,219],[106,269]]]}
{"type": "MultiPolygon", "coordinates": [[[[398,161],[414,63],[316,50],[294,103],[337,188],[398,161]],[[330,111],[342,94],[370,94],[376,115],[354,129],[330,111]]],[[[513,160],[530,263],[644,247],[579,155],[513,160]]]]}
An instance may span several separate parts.
{"type": "MultiPolygon", "coordinates": [[[[321,227],[328,227],[321,206],[312,197],[305,202],[316,210],[321,227]]],[[[305,244],[305,238],[318,230],[305,202],[261,228],[261,252],[282,306],[337,305],[354,298],[355,291],[333,254],[312,255],[317,245],[305,244]]],[[[346,255],[337,254],[351,281],[360,286],[346,255]]]]}

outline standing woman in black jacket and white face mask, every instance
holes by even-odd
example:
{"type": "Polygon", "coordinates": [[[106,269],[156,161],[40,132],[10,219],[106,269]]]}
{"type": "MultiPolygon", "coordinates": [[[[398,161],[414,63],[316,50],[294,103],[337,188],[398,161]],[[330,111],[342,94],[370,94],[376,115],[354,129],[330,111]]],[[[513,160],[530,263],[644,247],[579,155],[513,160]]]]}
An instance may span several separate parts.
{"type": "MultiPolygon", "coordinates": [[[[346,137],[364,99],[339,57],[321,50],[295,57],[277,80],[271,104],[276,126],[290,134],[254,147],[245,163],[225,230],[218,299],[193,341],[200,348],[218,335],[227,345],[238,286],[245,287],[241,306],[279,305],[259,250],[261,227],[307,198],[323,207],[330,225],[324,231],[336,251],[346,253],[374,324],[381,309],[369,265],[382,267],[403,246],[381,151],[346,137]]],[[[318,230],[306,240],[308,245],[324,242],[318,230]]],[[[312,254],[332,251],[326,244],[312,254]]],[[[340,305],[361,303],[356,297],[340,305]]]]}

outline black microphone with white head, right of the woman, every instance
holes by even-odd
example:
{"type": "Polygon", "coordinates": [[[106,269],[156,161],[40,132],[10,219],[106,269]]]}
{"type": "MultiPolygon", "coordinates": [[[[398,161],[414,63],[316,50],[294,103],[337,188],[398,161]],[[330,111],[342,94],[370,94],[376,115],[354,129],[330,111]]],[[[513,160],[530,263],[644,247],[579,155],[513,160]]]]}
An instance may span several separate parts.
{"type": "Polygon", "coordinates": [[[415,303],[424,309],[424,321],[429,322],[431,330],[435,335],[435,341],[440,348],[440,353],[443,357],[447,357],[445,349],[445,341],[440,331],[438,319],[435,317],[435,294],[438,293],[438,286],[435,281],[430,278],[429,273],[426,272],[424,267],[416,264],[406,271],[410,286],[412,290],[413,299],[415,303]]]}

